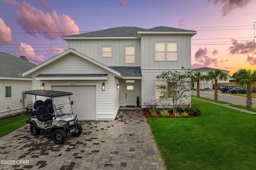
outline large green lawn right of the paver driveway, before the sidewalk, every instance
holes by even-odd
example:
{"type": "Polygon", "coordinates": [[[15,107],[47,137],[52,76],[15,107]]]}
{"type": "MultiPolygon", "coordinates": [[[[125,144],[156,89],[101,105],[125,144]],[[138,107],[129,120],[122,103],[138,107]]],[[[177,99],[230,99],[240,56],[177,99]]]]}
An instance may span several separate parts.
{"type": "Polygon", "coordinates": [[[168,170],[256,169],[256,115],[192,99],[194,118],[148,118],[168,170]]]}

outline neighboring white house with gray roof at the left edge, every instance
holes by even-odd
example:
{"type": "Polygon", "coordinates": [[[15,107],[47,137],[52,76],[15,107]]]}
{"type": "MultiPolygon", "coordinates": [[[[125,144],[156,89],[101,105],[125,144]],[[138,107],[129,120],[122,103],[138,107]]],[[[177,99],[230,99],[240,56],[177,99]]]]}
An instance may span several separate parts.
{"type": "Polygon", "coordinates": [[[32,103],[32,97],[22,96],[23,91],[32,90],[32,78],[22,77],[22,73],[35,66],[13,55],[0,53],[0,117],[24,111],[24,106],[32,103]]]}

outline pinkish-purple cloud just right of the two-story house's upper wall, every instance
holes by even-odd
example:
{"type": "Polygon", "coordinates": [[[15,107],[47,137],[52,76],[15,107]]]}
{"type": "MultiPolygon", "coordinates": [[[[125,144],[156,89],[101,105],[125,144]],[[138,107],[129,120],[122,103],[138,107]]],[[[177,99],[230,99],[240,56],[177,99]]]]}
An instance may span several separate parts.
{"type": "Polygon", "coordinates": [[[214,67],[218,66],[219,63],[217,58],[212,58],[208,56],[208,49],[207,48],[199,48],[198,51],[195,53],[195,59],[198,63],[192,64],[191,68],[199,68],[199,67],[208,67],[213,65],[214,67]]]}

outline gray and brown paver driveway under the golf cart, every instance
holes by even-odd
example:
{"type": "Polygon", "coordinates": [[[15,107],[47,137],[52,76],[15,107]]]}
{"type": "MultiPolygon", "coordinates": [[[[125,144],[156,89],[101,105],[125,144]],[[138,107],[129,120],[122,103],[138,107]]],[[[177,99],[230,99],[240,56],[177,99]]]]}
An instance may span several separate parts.
{"type": "Polygon", "coordinates": [[[141,110],[119,110],[114,121],[80,124],[80,137],[67,135],[62,145],[50,133],[32,136],[29,125],[0,138],[0,160],[8,163],[0,169],[166,169],[141,110]]]}

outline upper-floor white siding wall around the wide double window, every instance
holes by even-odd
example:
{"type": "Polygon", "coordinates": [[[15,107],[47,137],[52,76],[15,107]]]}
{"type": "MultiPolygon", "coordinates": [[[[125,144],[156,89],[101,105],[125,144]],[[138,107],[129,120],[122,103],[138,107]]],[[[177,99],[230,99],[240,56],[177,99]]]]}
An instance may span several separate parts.
{"type": "Polygon", "coordinates": [[[142,69],[180,69],[191,67],[190,35],[142,35],[142,69]],[[178,61],[155,61],[154,42],[174,41],[178,43],[178,61]]]}

